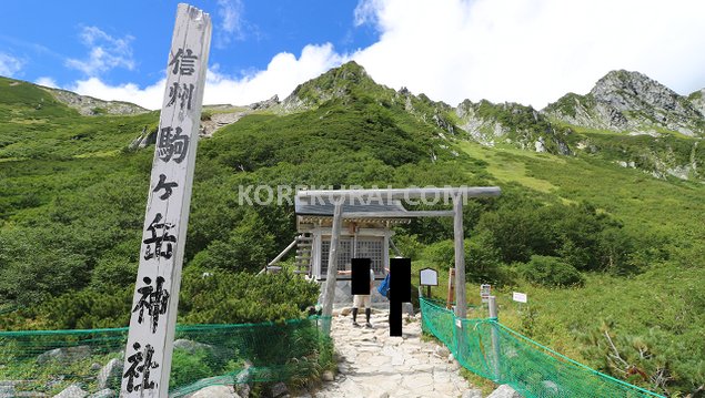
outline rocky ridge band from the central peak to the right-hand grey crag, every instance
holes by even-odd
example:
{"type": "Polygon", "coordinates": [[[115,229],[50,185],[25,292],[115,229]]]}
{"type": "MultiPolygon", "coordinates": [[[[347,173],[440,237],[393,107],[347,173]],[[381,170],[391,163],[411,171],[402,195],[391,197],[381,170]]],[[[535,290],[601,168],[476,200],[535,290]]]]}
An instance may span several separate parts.
{"type": "Polygon", "coordinates": [[[302,112],[332,100],[374,101],[406,112],[434,126],[443,141],[467,140],[555,155],[584,153],[658,178],[705,180],[705,153],[696,142],[705,136],[705,90],[686,98],[638,72],[610,72],[590,93],[568,93],[538,111],[486,100],[451,106],[405,88],[395,91],[376,84],[351,62],[300,84],[275,109],[280,114],[302,112]],[[605,133],[614,134],[614,140],[605,133]]]}

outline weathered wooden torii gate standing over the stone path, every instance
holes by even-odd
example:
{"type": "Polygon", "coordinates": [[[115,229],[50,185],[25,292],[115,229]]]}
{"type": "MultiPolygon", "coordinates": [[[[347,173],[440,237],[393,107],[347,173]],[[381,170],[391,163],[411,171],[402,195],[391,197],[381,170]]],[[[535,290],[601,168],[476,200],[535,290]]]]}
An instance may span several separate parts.
{"type": "MultiPolygon", "coordinates": [[[[328,274],[325,277],[325,292],[323,296],[323,315],[331,316],[333,313],[333,299],[335,296],[335,282],[338,271],[338,248],[343,218],[359,217],[360,214],[343,213],[343,203],[360,201],[365,203],[370,200],[416,200],[422,198],[427,203],[429,197],[451,198],[452,211],[416,211],[416,212],[377,212],[364,213],[365,217],[453,217],[453,234],[455,242],[455,316],[465,318],[467,305],[465,299],[465,248],[463,234],[463,203],[469,197],[493,197],[500,196],[501,190],[497,186],[475,186],[475,187],[423,187],[423,188],[386,188],[386,190],[338,190],[338,191],[301,191],[299,197],[308,197],[313,201],[328,198],[334,203],[333,227],[331,232],[331,248],[329,252],[328,274]]],[[[369,202],[367,202],[369,203],[369,202]]],[[[330,333],[330,323],[324,324],[326,333],[330,333]]]]}

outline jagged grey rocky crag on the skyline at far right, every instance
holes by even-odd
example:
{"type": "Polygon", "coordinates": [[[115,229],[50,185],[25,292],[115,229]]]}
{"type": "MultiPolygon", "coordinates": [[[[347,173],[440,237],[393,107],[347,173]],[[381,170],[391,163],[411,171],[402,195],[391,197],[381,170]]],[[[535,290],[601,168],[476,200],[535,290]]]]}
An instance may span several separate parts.
{"type": "MultiPolygon", "coordinates": [[[[697,93],[697,92],[696,92],[697,93]]],[[[696,93],[694,98],[701,98],[696,93]]],[[[616,132],[656,132],[659,129],[684,135],[703,135],[704,104],[638,72],[612,71],[586,95],[570,93],[544,109],[563,122],[616,132]]]]}

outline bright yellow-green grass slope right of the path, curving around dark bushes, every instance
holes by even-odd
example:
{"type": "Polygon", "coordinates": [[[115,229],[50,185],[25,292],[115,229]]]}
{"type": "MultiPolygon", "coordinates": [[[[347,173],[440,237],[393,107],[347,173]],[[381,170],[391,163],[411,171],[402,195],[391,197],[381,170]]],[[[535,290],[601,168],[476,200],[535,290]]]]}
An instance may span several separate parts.
{"type": "MultiPolygon", "coordinates": [[[[705,346],[699,343],[705,340],[705,330],[696,326],[705,324],[705,186],[661,181],[590,157],[487,150],[473,143],[462,147],[487,162],[501,184],[516,182],[565,201],[588,201],[621,220],[627,231],[649,231],[664,239],[674,254],[632,278],[588,275],[577,289],[521,282],[507,286],[498,293],[504,323],[602,370],[612,370],[603,336],[608,331],[623,356],[644,345],[655,357],[673,364],[674,376],[705,380],[705,346]],[[511,300],[512,290],[528,293],[528,308],[511,300]]],[[[479,304],[479,286],[469,284],[467,288],[479,304]]],[[[444,294],[443,288],[439,290],[444,294]]]]}

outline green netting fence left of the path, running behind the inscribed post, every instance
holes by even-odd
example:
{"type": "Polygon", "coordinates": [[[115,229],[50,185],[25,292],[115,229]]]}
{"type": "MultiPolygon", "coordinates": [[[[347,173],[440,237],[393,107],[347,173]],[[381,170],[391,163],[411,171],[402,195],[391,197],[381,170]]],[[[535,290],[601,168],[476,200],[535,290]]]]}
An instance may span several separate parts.
{"type": "MultiPolygon", "coordinates": [[[[330,317],[241,325],[178,325],[170,397],[212,385],[305,382],[332,343],[330,317]]],[[[0,397],[119,395],[128,328],[0,331],[0,397]]],[[[330,360],[330,358],[329,358],[330,360]]]]}

